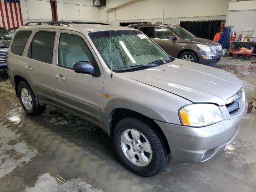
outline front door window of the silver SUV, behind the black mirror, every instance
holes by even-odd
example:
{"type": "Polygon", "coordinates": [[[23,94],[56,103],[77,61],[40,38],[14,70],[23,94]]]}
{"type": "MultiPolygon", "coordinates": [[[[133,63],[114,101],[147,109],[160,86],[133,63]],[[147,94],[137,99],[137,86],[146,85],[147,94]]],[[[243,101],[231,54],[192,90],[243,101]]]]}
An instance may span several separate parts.
{"type": "Polygon", "coordinates": [[[92,63],[92,59],[92,53],[80,36],[68,33],[60,34],[58,66],[73,69],[75,62],[88,61],[92,63]]]}

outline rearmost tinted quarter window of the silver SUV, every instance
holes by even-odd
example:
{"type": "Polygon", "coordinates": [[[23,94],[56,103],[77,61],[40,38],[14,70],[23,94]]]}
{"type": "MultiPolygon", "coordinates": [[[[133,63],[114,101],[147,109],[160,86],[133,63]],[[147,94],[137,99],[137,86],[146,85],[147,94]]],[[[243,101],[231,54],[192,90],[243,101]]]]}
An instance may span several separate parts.
{"type": "Polygon", "coordinates": [[[11,52],[15,55],[22,56],[24,48],[28,42],[32,31],[18,31],[12,41],[11,52]]]}

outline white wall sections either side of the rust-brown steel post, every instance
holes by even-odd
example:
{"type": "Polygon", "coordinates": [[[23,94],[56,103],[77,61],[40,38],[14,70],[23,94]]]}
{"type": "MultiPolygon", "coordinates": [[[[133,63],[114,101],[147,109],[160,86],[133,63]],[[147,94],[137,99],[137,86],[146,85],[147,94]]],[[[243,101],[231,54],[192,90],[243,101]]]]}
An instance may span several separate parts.
{"type": "MultiPolygon", "coordinates": [[[[21,0],[24,23],[28,21],[51,21],[49,0],[21,0]]],[[[58,0],[58,20],[99,21],[100,10],[93,6],[93,0],[58,0]]]]}

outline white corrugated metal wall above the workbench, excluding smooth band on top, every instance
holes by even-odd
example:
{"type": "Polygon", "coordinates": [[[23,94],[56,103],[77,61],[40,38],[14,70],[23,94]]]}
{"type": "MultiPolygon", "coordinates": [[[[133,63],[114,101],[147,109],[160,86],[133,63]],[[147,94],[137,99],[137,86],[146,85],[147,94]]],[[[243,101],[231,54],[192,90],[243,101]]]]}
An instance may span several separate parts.
{"type": "Polygon", "coordinates": [[[232,32],[236,31],[237,38],[242,29],[247,28],[251,28],[253,35],[256,35],[256,10],[228,11],[226,26],[232,26],[232,32]]]}

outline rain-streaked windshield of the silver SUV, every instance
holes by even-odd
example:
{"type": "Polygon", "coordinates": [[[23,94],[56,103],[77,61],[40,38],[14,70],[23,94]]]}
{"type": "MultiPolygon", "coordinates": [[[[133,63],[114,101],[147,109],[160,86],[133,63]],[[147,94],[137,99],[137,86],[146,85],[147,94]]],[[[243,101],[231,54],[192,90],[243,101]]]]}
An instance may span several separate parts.
{"type": "Polygon", "coordinates": [[[140,70],[172,61],[170,56],[140,31],[111,31],[111,49],[109,33],[92,32],[89,36],[109,68],[115,72],[127,72],[135,68],[140,70]]]}

